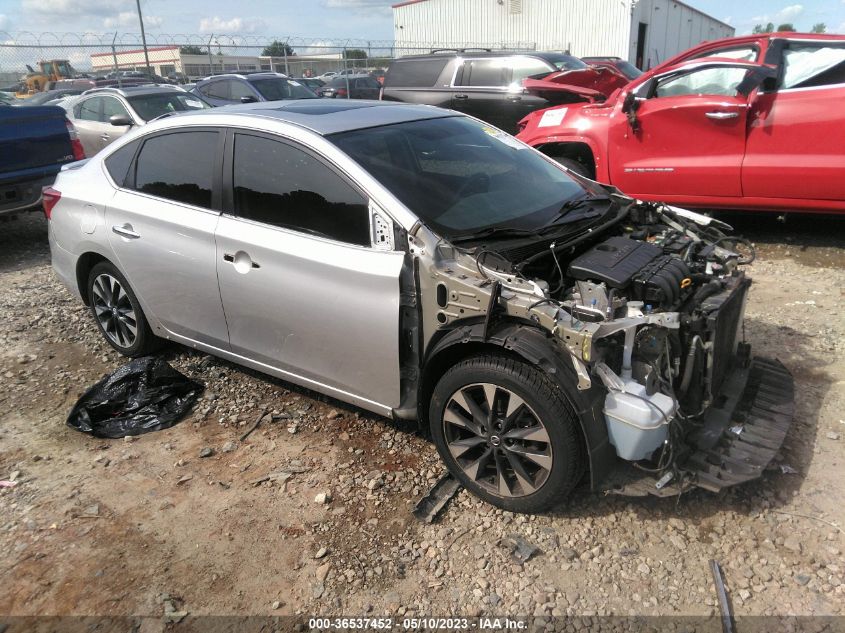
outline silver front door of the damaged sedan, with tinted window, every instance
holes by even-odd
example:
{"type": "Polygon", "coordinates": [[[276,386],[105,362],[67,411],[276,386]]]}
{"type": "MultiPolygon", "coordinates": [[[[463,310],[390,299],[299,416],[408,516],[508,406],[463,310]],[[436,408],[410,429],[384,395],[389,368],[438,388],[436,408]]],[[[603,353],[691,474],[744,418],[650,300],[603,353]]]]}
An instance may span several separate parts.
{"type": "Polygon", "coordinates": [[[308,148],[236,132],[217,228],[232,351],[359,404],[399,401],[399,271],[369,201],[308,148]]]}

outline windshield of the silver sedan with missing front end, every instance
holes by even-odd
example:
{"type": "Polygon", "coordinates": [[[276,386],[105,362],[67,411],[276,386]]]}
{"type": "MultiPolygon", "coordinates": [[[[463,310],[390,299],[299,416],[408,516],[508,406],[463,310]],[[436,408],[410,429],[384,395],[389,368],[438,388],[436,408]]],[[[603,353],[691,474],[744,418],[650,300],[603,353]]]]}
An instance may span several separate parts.
{"type": "Polygon", "coordinates": [[[509,134],[465,117],[328,138],[444,237],[539,229],[565,202],[600,195],[509,134]]]}

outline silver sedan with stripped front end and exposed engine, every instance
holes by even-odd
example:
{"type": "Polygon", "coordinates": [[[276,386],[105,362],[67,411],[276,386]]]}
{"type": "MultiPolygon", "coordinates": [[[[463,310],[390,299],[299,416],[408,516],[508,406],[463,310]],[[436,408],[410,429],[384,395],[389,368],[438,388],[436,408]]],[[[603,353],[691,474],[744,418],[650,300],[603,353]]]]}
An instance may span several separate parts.
{"type": "Polygon", "coordinates": [[[166,338],[417,420],[507,510],[585,472],[719,490],[789,427],[791,376],[740,340],[750,279],[724,225],[456,112],[165,118],[62,172],[45,213],[56,273],[119,352],[166,338]]]}

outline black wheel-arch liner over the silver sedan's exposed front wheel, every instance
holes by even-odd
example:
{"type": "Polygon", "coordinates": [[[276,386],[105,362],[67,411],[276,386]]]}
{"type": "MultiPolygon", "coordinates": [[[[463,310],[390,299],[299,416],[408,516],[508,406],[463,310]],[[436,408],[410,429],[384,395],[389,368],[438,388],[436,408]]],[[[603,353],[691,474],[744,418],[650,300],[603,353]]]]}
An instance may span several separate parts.
{"type": "Polygon", "coordinates": [[[572,406],[584,437],[590,466],[590,484],[593,490],[609,473],[616,461],[616,451],[607,435],[604,419],[606,391],[601,381],[594,380],[589,389],[579,391],[578,378],[566,352],[550,333],[527,323],[499,321],[487,325],[484,320],[458,322],[443,330],[432,340],[423,366],[420,402],[428,402],[433,383],[454,364],[455,358],[463,359],[487,349],[506,350],[544,371],[560,389],[572,406]]]}

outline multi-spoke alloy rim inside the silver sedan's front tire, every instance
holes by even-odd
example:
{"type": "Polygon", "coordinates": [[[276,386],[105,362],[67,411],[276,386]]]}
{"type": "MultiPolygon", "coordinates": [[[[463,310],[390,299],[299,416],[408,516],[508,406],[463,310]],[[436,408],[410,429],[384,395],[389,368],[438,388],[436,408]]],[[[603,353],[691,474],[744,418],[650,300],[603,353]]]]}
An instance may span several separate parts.
{"type": "Polygon", "coordinates": [[[546,427],[521,397],[498,385],[477,383],[452,394],[443,435],[464,474],[500,497],[536,492],[552,469],[546,427]]]}

